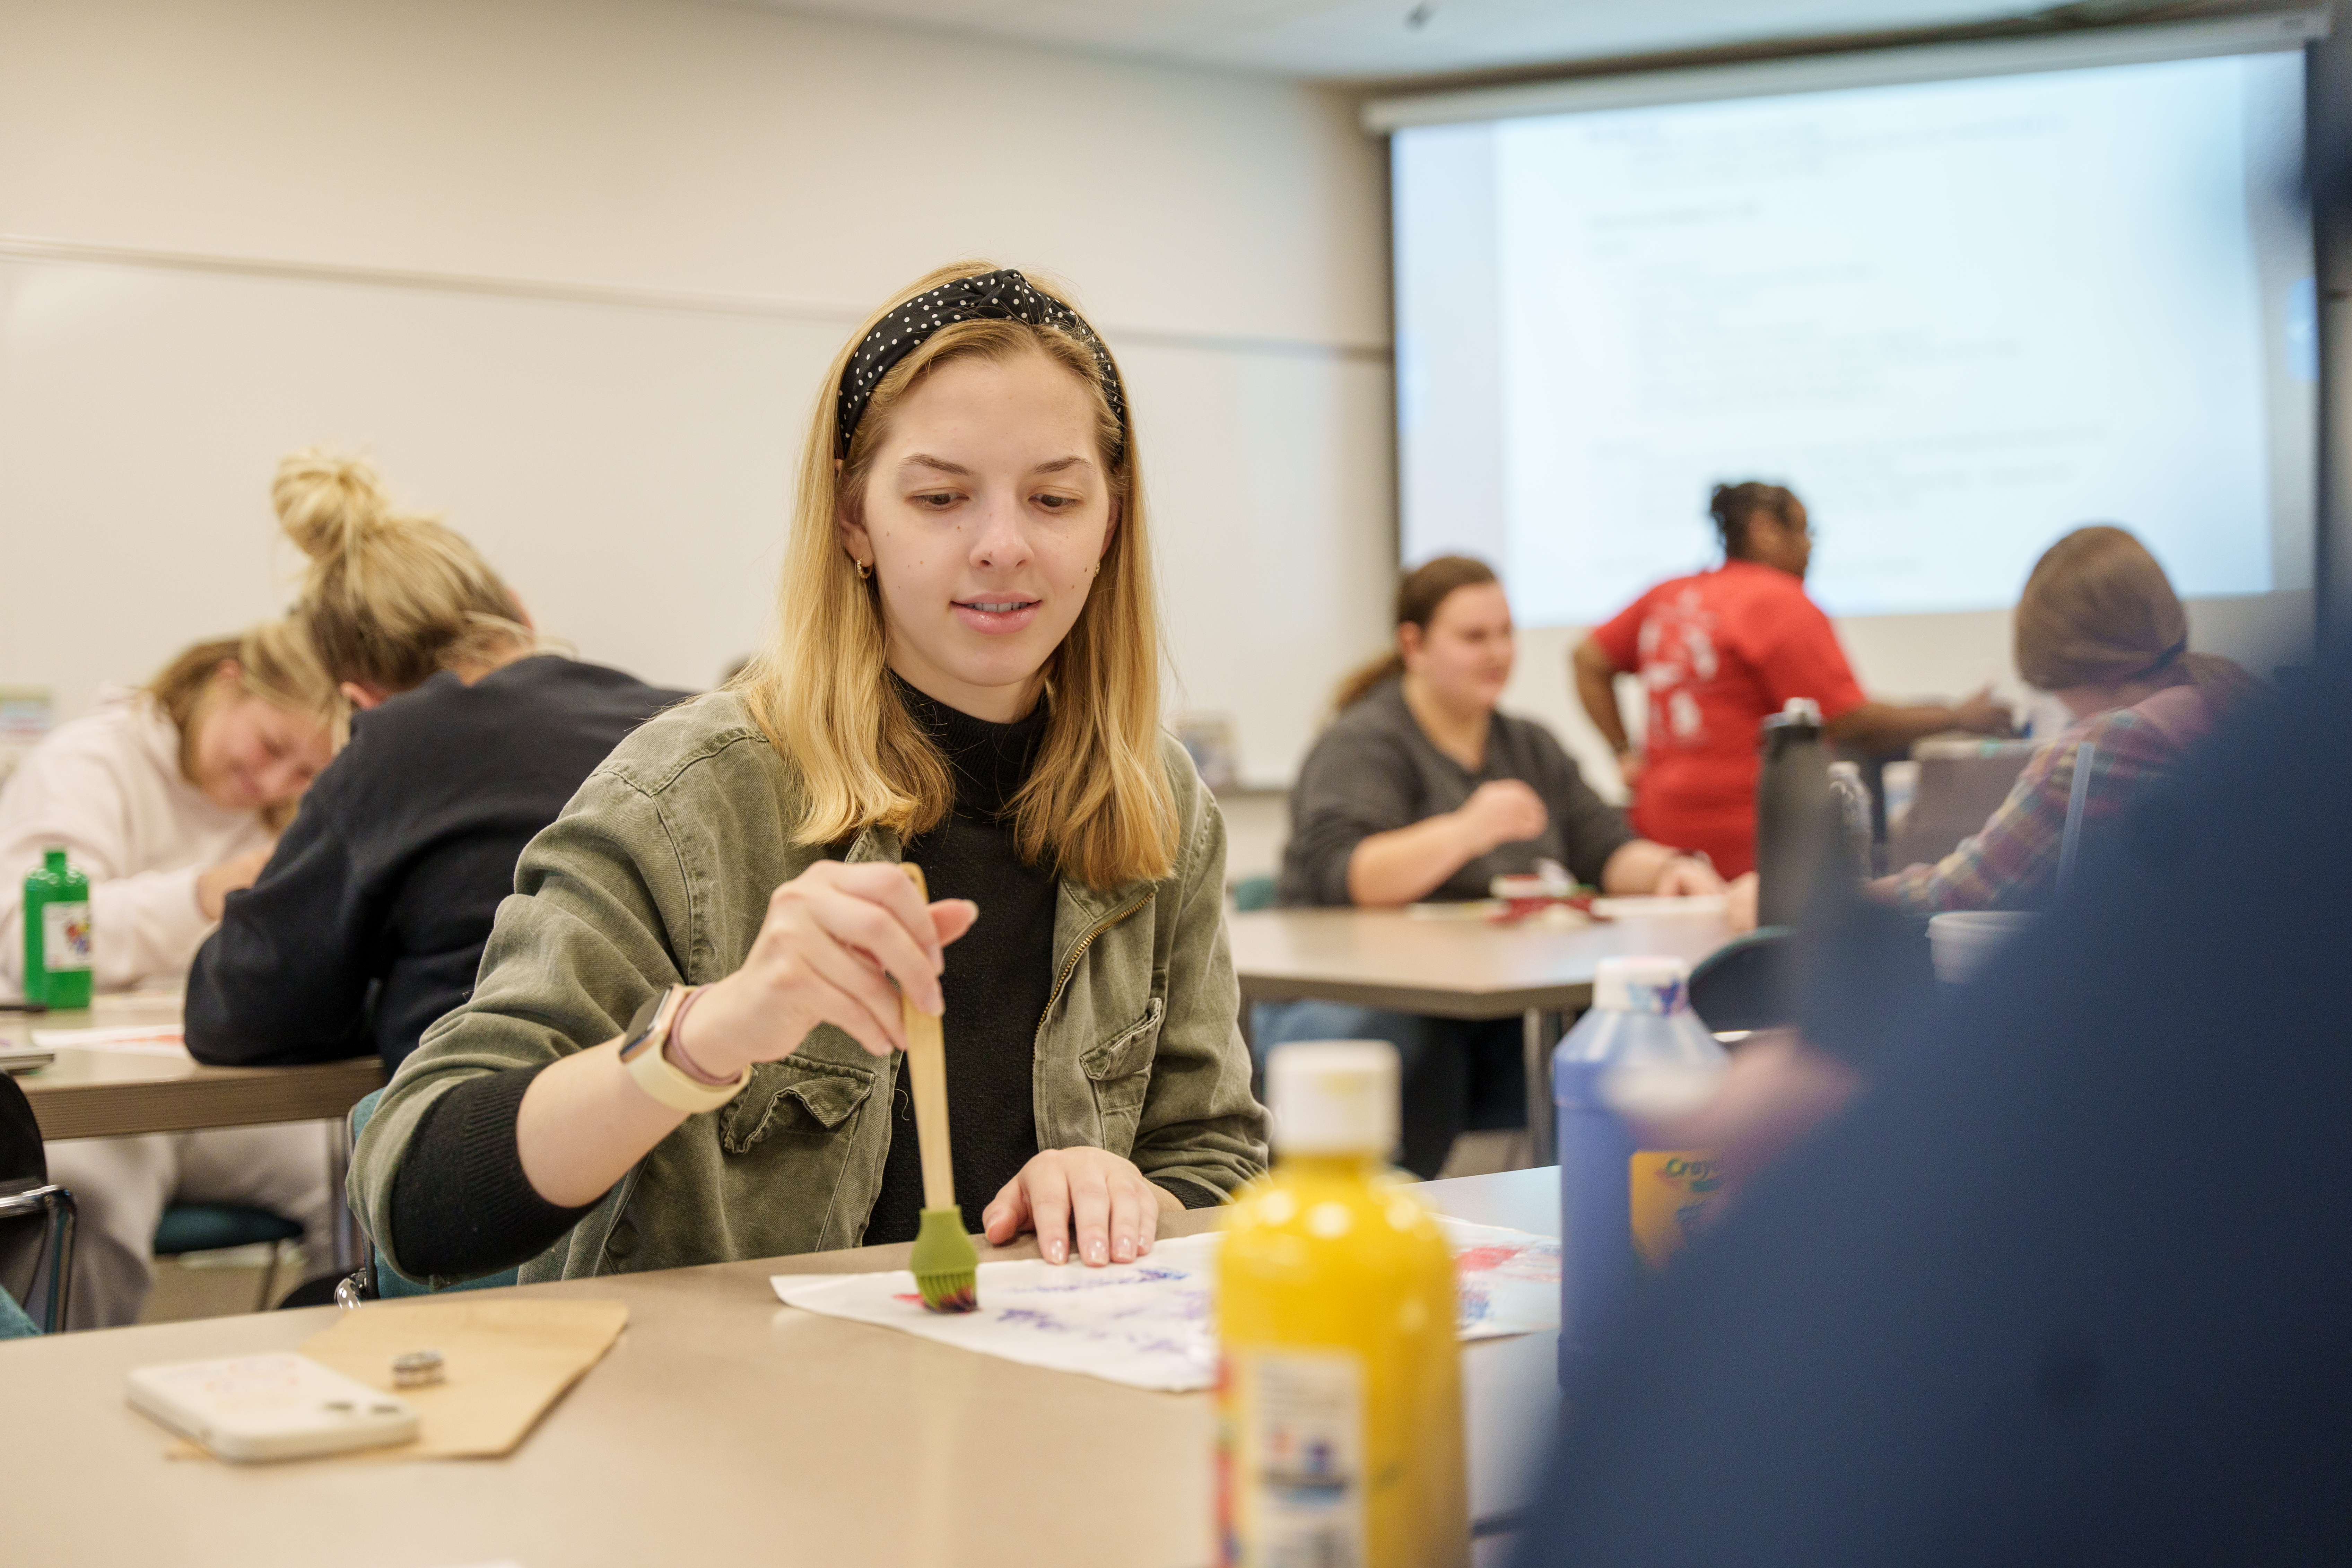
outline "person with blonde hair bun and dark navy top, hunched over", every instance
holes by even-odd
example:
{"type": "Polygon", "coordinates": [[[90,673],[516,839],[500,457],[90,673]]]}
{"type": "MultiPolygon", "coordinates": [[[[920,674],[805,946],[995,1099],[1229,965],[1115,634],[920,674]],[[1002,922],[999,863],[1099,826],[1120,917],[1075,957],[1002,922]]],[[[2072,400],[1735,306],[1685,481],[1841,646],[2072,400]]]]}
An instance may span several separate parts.
{"type": "Polygon", "coordinates": [[[221,1065],[376,1051],[386,1067],[473,990],[515,860],[682,691],[539,646],[461,534],[320,449],[270,501],[310,557],[296,616],[358,708],[350,745],[188,976],[188,1048],[221,1065]]]}

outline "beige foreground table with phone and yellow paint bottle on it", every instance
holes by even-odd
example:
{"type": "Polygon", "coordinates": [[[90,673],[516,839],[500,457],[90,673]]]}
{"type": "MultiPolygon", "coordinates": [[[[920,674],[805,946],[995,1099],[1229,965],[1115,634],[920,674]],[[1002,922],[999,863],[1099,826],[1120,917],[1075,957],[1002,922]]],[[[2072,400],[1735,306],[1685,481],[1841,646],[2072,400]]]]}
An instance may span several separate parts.
{"type": "MultiPolygon", "coordinates": [[[[1550,1171],[1430,1182],[1446,1213],[1557,1234],[1550,1171]]],[[[1171,1232],[1211,1213],[1171,1215],[1171,1232]]],[[[506,1460],[167,1460],[134,1366],[292,1349],[334,1307],[0,1342],[12,1568],[644,1568],[1211,1561],[1211,1396],[978,1356],[776,1302],[771,1272],[906,1246],[524,1293],[628,1302],[628,1331],[506,1460]]],[[[1035,1255],[1033,1244],[985,1255],[1035,1255]]],[[[365,1307],[362,1307],[365,1312],[365,1307]]],[[[1557,1420],[1555,1335],[1465,1347],[1472,1509],[1524,1507],[1557,1420]]],[[[1501,1544],[1501,1542],[1496,1542],[1501,1544]]],[[[1491,1554],[1491,1549],[1489,1549],[1491,1554]]]]}

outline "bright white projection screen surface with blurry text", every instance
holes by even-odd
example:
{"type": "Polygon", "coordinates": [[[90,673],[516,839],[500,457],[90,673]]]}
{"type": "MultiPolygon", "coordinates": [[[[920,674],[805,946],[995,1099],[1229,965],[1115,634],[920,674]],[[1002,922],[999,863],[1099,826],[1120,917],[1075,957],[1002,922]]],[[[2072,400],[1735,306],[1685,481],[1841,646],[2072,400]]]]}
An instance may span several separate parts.
{"type": "Polygon", "coordinates": [[[1404,555],[1602,621],[1764,477],[1835,614],[1992,609],[2091,520],[2310,583],[2300,56],[1397,134],[1404,555]]]}

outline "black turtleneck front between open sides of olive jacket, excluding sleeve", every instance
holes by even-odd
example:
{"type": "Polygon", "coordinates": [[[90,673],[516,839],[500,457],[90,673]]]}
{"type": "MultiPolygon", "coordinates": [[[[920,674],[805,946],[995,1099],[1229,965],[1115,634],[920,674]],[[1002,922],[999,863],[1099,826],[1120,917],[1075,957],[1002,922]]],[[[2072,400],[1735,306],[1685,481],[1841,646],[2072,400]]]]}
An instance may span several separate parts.
{"type": "MultiPolygon", "coordinates": [[[[955,769],[955,811],[908,839],[906,858],[922,867],[931,898],[981,905],[971,931],[948,945],[938,978],[948,1058],[948,1145],[955,1154],[955,1199],[964,1229],[981,1229],[981,1211],[997,1187],[1037,1152],[1033,1098],[1037,1025],[1054,992],[1054,872],[1023,865],[1014,825],[1004,816],[1028,780],[1044,741],[1044,703],[1016,724],[988,724],[934,703],[906,682],[898,696],[915,722],[931,731],[955,769]]],[[[906,1074],[891,1095],[889,1164],[866,1220],[866,1241],[913,1241],[922,1215],[922,1152],[906,1074]]]]}

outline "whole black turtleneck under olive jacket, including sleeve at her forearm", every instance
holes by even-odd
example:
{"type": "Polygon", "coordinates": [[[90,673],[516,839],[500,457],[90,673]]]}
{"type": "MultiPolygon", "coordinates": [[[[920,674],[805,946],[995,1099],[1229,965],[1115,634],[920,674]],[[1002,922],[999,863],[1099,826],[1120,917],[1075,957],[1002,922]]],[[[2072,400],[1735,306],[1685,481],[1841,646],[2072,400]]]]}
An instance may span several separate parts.
{"type": "MultiPolygon", "coordinates": [[[[988,724],[934,703],[891,677],[915,722],[955,769],[955,809],[906,844],[931,898],[981,905],[948,945],[941,992],[955,1197],[964,1229],[1037,1152],[1033,1098],[1037,1025],[1054,992],[1056,877],[1023,865],[1002,809],[1021,790],[1047,710],[988,724]]],[[[489,1072],[437,1098],[416,1124],[393,1178],[400,1255],[428,1274],[492,1274],[536,1258],[590,1206],[557,1208],[532,1190],[515,1147],[515,1117],[539,1067],[489,1072]]],[[[1190,1199],[1190,1185],[1183,1194],[1190,1199]]],[[[889,1161],[866,1222],[866,1244],[913,1241],[922,1215],[922,1145],[906,1077],[891,1095],[889,1161]]]]}

